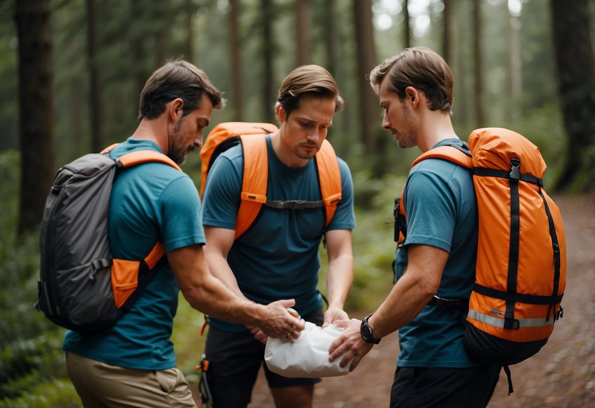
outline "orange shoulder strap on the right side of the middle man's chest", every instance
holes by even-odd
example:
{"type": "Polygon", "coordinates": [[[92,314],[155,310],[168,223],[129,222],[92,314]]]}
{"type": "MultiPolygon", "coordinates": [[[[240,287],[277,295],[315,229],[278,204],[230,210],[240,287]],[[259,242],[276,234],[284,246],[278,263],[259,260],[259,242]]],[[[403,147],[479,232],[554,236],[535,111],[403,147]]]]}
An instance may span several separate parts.
{"type": "Polygon", "coordinates": [[[339,205],[339,201],[343,197],[341,171],[339,169],[339,161],[337,161],[337,154],[328,140],[325,139],[322,142],[320,150],[318,150],[318,153],[314,157],[318,170],[318,180],[320,180],[320,192],[325,208],[326,218],[324,227],[328,227],[328,224],[330,224],[337,211],[337,205],[339,205]]]}

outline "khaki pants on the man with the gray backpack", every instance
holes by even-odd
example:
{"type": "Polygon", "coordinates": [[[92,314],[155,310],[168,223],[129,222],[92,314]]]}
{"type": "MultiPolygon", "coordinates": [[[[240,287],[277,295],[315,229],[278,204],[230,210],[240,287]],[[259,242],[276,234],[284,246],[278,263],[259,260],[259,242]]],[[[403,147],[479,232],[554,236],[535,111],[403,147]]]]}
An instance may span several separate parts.
{"type": "Polygon", "coordinates": [[[181,371],[137,370],[113,366],[66,352],[66,371],[85,408],[193,407],[181,371]]]}

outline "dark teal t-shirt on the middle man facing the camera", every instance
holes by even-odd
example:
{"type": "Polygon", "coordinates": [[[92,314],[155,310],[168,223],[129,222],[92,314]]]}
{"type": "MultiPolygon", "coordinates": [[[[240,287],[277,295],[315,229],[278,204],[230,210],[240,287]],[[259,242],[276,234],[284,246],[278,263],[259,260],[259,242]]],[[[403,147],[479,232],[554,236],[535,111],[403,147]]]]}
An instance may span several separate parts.
{"type": "MultiPolygon", "coordinates": [[[[302,168],[289,168],[280,161],[266,136],[268,149],[268,200],[321,200],[314,160],[302,168]]],[[[218,156],[203,194],[204,225],[234,230],[240,206],[243,177],[242,146],[218,156]]],[[[327,230],[355,228],[353,183],[349,167],[339,159],[342,199],[327,230]]],[[[227,262],[242,293],[258,303],[278,299],[296,300],[302,316],[322,307],[318,293],[318,246],[324,230],[324,208],[275,209],[262,206],[252,226],[234,241],[227,262]]],[[[210,318],[214,327],[243,331],[242,325],[210,318]]]]}

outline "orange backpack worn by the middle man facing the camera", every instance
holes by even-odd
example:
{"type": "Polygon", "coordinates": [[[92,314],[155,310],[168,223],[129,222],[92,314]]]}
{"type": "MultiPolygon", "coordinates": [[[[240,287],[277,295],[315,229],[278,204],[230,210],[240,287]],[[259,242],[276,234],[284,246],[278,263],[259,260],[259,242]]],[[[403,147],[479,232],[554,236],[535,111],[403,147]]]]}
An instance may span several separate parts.
{"type": "Polygon", "coordinates": [[[342,197],[341,173],[333,146],[324,140],[315,156],[322,200],[267,200],[268,153],[265,135],[277,131],[270,123],[226,122],[213,128],[201,148],[201,189],[205,191],[208,172],[215,159],[231,146],[242,144],[244,171],[242,180],[242,201],[237,213],[236,236],[245,233],[262,205],[284,209],[325,208],[325,227],[337,211],[342,197]]]}

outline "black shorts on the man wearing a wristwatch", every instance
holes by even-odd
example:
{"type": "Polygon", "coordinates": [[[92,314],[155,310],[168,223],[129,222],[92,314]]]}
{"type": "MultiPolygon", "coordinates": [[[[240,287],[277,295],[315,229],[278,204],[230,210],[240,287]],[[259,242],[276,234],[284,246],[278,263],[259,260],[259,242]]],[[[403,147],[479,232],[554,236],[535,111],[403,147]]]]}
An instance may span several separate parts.
{"type": "Polygon", "coordinates": [[[390,406],[399,408],[484,408],[498,382],[500,367],[397,367],[390,406]]]}

